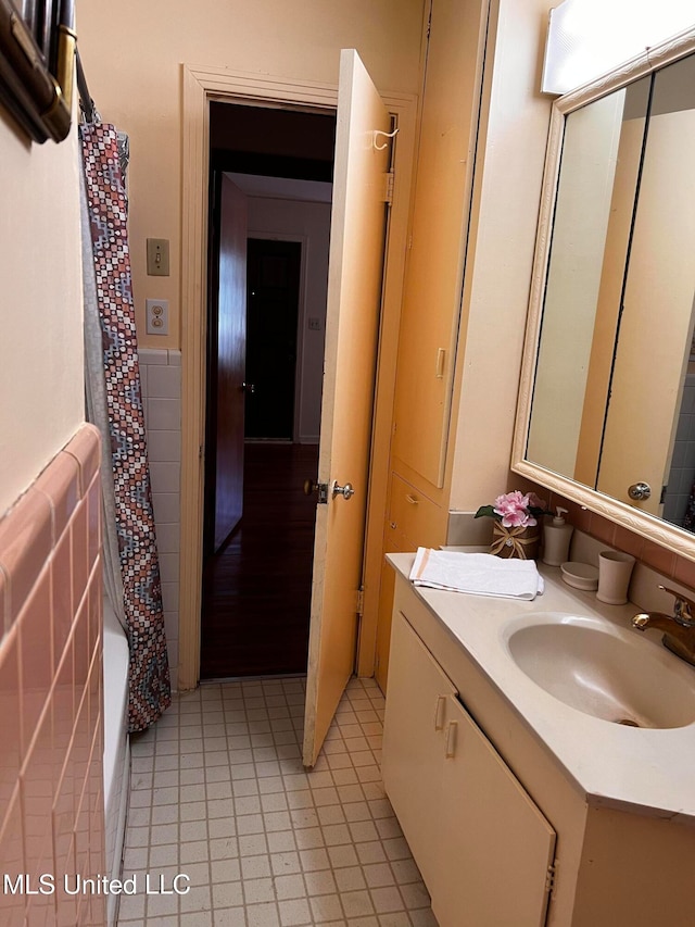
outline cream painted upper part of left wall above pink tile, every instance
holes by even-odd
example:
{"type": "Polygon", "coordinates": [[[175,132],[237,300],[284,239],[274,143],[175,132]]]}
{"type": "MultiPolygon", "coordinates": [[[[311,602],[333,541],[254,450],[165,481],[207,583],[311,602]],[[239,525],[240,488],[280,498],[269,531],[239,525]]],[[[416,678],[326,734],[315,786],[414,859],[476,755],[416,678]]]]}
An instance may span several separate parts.
{"type": "Polygon", "coordinates": [[[2,515],[73,436],[85,400],[75,129],[30,145],[0,110],[0,164],[2,515]]]}

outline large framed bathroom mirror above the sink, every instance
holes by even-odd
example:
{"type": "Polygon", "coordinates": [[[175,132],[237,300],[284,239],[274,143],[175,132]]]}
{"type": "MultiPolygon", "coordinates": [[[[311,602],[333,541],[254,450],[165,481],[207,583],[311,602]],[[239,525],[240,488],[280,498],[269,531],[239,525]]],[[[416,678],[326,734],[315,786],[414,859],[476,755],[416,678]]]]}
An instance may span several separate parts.
{"type": "Polygon", "coordinates": [[[694,300],[695,29],[554,104],[511,464],[693,560],[694,300]]]}

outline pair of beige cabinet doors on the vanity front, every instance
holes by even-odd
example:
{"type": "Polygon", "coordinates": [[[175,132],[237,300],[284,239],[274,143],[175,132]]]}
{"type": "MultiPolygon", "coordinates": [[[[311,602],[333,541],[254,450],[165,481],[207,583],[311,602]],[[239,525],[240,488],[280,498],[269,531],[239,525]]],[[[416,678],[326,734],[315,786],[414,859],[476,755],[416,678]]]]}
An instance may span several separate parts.
{"type": "Polygon", "coordinates": [[[555,831],[400,611],[382,773],[440,927],[545,923],[555,831]]]}

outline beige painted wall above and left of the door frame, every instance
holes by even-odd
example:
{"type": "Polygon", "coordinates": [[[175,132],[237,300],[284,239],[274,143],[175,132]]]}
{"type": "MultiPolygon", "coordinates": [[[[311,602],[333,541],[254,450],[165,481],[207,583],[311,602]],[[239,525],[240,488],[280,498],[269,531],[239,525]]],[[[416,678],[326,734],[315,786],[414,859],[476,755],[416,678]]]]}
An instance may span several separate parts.
{"type": "Polygon", "coordinates": [[[79,48],[104,122],[130,137],[129,241],[138,329],[147,298],[168,299],[169,336],[142,347],[180,347],[181,63],[337,84],[341,48],[357,48],[377,86],[415,92],[422,0],[140,0],[81,3],[79,48]],[[146,275],[146,238],[170,240],[170,276],[146,275]]]}

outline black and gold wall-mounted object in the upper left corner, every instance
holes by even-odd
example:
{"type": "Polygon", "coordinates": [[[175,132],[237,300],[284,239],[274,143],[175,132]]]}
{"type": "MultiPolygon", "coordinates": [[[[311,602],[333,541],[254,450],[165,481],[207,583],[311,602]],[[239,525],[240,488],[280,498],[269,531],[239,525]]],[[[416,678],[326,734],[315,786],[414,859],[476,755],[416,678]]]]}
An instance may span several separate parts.
{"type": "Polygon", "coordinates": [[[74,0],[0,0],[0,107],[38,143],[70,133],[74,17],[74,0]]]}

